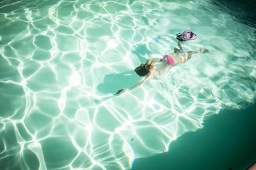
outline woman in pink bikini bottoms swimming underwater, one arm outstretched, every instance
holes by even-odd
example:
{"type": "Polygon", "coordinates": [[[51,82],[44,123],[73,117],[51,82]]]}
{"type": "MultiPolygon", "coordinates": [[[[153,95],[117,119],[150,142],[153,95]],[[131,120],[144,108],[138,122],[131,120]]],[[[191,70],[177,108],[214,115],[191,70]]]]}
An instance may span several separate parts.
{"type": "MultiPolygon", "coordinates": [[[[180,42],[180,41],[179,41],[180,42]]],[[[178,42],[178,45],[179,45],[178,42]]],[[[156,79],[161,76],[164,76],[168,71],[173,67],[179,64],[182,64],[189,60],[192,57],[193,53],[207,53],[209,52],[205,48],[200,48],[198,51],[188,51],[184,52],[184,56],[180,56],[180,52],[182,52],[182,47],[180,43],[180,50],[174,48],[174,52],[170,54],[166,54],[163,56],[163,59],[148,59],[145,64],[141,64],[140,66],[136,67],[134,71],[138,74],[138,76],[145,76],[144,80],[140,81],[136,85],[128,88],[128,89],[120,89],[116,92],[115,96],[118,96],[128,90],[132,90],[136,87],[139,87],[146,81],[150,79],[156,79]]]]}

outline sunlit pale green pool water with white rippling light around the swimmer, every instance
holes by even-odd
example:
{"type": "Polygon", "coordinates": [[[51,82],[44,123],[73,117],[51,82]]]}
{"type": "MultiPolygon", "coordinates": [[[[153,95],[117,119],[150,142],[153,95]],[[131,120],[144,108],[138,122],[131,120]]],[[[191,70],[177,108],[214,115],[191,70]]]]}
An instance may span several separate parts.
{"type": "Polygon", "coordinates": [[[207,1],[42,2],[0,3],[1,169],[129,169],[255,100],[255,28],[207,1]],[[210,52],[111,97],[186,29],[210,52]]]}

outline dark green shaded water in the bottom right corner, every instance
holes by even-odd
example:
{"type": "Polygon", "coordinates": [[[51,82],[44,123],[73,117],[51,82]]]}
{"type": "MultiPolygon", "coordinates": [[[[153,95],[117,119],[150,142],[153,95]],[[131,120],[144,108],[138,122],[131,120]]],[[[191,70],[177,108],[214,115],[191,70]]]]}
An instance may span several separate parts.
{"type": "Polygon", "coordinates": [[[256,105],[244,110],[222,110],[204,128],[173,141],[169,152],[134,161],[132,170],[233,169],[256,160],[256,105]]]}

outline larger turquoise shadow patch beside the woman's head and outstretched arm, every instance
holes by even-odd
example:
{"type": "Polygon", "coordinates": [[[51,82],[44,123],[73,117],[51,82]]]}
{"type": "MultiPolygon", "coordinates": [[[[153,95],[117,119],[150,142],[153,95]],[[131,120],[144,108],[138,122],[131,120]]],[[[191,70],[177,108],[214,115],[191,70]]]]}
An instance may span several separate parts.
{"type": "Polygon", "coordinates": [[[129,88],[140,81],[141,78],[133,70],[122,73],[106,74],[103,83],[97,86],[99,92],[115,94],[119,89],[129,88]]]}

